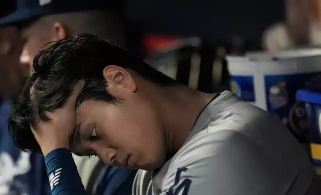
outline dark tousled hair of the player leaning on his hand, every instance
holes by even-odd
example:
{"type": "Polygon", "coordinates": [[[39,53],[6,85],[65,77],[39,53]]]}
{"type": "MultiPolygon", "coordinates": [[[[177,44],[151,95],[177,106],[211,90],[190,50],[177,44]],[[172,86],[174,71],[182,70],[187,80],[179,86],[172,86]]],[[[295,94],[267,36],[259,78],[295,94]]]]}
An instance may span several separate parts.
{"type": "Polygon", "coordinates": [[[29,123],[33,123],[36,116],[42,121],[49,120],[44,113],[62,107],[79,80],[84,80],[85,85],[77,106],[89,99],[120,103],[120,99],[106,91],[102,73],[108,65],[133,70],[159,87],[177,85],[176,81],[139,58],[96,35],[62,39],[35,56],[34,73],[26,78],[19,95],[12,100],[9,129],[17,147],[23,151],[41,152],[29,123]]]}

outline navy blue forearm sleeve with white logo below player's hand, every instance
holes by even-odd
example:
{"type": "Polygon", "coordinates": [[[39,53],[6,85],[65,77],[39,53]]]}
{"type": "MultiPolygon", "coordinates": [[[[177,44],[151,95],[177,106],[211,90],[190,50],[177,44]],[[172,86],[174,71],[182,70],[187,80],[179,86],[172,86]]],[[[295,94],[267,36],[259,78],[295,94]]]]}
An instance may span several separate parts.
{"type": "Polygon", "coordinates": [[[70,150],[59,148],[50,152],[45,164],[52,195],[86,195],[70,150]]]}

